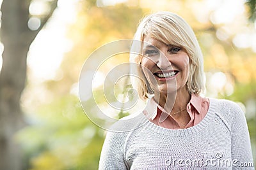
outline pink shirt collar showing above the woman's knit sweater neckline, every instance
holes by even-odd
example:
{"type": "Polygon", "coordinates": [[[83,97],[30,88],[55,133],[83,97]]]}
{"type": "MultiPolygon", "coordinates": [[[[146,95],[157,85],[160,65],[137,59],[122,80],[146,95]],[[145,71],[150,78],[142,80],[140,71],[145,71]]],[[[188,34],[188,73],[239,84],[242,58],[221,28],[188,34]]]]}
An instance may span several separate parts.
{"type": "MultiPolygon", "coordinates": [[[[197,94],[191,94],[191,99],[187,104],[187,111],[190,117],[188,124],[184,127],[189,128],[193,127],[194,125],[198,124],[206,115],[209,109],[209,99],[201,97],[197,94]]],[[[156,125],[161,127],[165,127],[167,129],[182,129],[175,118],[172,115],[169,115],[164,122],[159,122],[159,118],[161,113],[166,113],[164,109],[159,106],[154,100],[154,97],[148,101],[147,106],[143,113],[148,117],[148,120],[153,122],[156,125]]],[[[168,114],[168,113],[166,113],[168,114]]]]}

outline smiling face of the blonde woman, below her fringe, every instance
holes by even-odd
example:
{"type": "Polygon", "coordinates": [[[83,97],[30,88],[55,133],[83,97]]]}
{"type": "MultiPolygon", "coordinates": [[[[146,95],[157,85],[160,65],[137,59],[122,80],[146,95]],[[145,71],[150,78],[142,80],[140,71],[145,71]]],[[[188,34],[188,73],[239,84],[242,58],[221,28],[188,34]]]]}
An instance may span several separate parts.
{"type": "Polygon", "coordinates": [[[141,66],[155,91],[157,88],[161,93],[187,90],[189,57],[181,47],[166,45],[157,39],[145,36],[141,66]],[[154,75],[156,81],[152,80],[153,76],[150,74],[154,75]],[[157,85],[153,82],[157,82],[157,85]]]}

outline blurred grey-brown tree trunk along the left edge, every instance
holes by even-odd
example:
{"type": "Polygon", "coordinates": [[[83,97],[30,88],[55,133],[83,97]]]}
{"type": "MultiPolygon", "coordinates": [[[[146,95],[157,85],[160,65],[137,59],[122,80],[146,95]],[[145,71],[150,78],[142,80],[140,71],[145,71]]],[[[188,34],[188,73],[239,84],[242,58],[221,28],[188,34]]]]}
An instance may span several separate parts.
{"type": "Polygon", "coordinates": [[[0,73],[0,169],[22,169],[20,147],[14,134],[23,125],[20,96],[26,81],[29,1],[4,0],[1,6],[1,41],[4,45],[0,73]]]}

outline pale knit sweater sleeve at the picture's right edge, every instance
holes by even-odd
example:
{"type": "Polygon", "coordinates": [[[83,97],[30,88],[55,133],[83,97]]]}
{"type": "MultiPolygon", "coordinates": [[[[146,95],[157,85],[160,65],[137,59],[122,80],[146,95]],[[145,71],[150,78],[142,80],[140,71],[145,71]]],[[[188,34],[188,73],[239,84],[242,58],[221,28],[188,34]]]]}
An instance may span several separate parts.
{"type": "Polygon", "coordinates": [[[233,169],[254,169],[250,136],[244,113],[237,104],[232,106],[231,113],[233,116],[231,126],[233,169]]]}

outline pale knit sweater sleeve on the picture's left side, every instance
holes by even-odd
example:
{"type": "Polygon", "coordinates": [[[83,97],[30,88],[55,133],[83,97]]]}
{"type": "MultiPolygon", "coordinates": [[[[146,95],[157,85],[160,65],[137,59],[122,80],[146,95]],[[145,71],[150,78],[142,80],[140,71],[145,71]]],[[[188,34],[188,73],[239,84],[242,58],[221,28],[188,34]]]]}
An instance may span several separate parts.
{"type": "Polygon", "coordinates": [[[127,169],[124,160],[126,132],[108,132],[100,155],[99,169],[127,169]]]}

